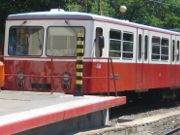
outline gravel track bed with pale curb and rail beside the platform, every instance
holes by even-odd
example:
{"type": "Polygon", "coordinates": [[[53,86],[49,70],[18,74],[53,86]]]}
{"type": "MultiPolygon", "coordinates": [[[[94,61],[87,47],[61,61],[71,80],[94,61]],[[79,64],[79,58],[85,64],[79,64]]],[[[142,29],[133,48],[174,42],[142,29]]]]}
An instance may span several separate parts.
{"type": "Polygon", "coordinates": [[[108,127],[77,135],[174,135],[179,132],[180,101],[159,104],[133,103],[113,108],[110,114],[108,127]]]}

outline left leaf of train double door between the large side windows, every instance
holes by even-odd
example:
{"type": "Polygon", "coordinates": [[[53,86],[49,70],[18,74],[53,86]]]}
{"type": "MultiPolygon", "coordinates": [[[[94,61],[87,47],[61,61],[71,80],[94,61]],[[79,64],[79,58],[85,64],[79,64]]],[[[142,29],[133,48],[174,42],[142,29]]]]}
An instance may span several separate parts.
{"type": "Polygon", "coordinates": [[[136,88],[141,90],[142,89],[142,80],[143,80],[143,30],[137,30],[137,63],[136,63],[136,88]]]}

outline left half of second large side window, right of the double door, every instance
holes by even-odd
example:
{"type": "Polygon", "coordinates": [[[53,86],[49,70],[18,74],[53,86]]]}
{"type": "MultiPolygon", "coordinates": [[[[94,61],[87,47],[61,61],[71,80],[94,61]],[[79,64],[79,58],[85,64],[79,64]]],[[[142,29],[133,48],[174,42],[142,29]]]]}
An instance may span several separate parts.
{"type": "Polygon", "coordinates": [[[160,37],[152,37],[152,60],[160,60],[160,37]]]}

